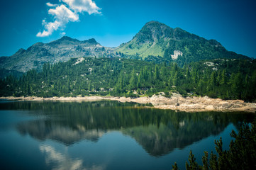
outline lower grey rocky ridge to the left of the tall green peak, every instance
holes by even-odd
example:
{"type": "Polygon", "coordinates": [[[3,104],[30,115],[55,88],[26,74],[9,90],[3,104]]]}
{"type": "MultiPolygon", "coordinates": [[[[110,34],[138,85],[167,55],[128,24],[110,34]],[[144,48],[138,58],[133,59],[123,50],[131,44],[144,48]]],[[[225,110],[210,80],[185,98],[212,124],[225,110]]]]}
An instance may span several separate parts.
{"type": "Polygon", "coordinates": [[[29,69],[41,69],[45,62],[54,64],[76,57],[104,57],[109,51],[111,48],[101,46],[94,38],[79,41],[64,36],[49,43],[35,43],[27,50],[20,49],[10,57],[0,57],[0,68],[27,72],[29,69]]]}

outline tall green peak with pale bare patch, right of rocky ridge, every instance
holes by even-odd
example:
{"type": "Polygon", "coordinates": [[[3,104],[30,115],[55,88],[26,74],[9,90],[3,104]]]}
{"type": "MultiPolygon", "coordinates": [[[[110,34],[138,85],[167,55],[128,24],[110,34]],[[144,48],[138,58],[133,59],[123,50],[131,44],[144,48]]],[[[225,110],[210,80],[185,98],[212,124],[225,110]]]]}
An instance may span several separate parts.
{"type": "Polygon", "coordinates": [[[157,21],[146,23],[132,40],[120,45],[116,51],[129,58],[169,60],[182,65],[217,58],[248,58],[229,52],[216,40],[206,40],[181,28],[170,28],[157,21]]]}

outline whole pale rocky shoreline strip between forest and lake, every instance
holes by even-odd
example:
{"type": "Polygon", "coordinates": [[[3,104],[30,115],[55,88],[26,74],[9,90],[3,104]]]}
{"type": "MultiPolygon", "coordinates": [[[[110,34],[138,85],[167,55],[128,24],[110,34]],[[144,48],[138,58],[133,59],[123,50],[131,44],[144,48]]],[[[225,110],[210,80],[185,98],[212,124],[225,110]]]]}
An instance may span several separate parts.
{"type": "Polygon", "coordinates": [[[36,96],[28,97],[0,97],[10,101],[119,101],[119,102],[134,102],[134,103],[151,103],[152,108],[169,109],[174,111],[198,112],[198,111],[225,111],[225,112],[248,112],[256,113],[256,103],[246,103],[242,100],[222,100],[220,98],[204,97],[187,97],[184,98],[180,94],[172,94],[171,98],[164,96],[126,98],[114,96],[84,96],[84,97],[51,97],[42,98],[36,96]]]}

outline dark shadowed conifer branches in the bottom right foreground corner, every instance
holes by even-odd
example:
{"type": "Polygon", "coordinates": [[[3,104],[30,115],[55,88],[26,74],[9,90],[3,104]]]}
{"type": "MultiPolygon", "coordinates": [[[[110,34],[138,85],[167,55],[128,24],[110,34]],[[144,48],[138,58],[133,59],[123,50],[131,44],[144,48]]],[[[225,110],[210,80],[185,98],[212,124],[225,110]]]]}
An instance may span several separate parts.
{"type": "MultiPolygon", "coordinates": [[[[215,140],[215,149],[217,154],[204,152],[201,161],[203,166],[196,162],[194,154],[190,151],[189,160],[186,162],[187,170],[194,169],[255,169],[256,159],[256,121],[251,126],[243,124],[239,132],[234,130],[230,133],[234,137],[229,145],[228,150],[223,150],[222,139],[215,140]],[[208,157],[209,156],[209,157],[208,157]]],[[[178,165],[172,166],[173,170],[177,170],[178,165]]]]}

